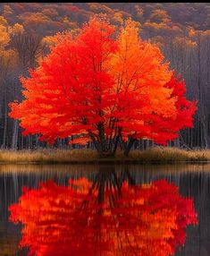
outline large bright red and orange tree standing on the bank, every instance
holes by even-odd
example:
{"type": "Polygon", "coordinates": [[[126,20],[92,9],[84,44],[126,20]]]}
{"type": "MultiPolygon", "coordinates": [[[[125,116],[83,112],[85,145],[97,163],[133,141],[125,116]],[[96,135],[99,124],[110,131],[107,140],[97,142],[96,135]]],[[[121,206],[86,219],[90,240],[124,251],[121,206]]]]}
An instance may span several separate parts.
{"type": "Polygon", "coordinates": [[[127,155],[136,140],[166,144],[193,125],[196,103],[134,21],[117,30],[94,16],[77,36],[57,38],[30,78],[21,78],[25,99],[10,105],[24,134],[49,143],[74,135],[71,143],[93,141],[103,156],[119,145],[127,155]]]}

